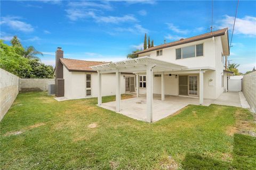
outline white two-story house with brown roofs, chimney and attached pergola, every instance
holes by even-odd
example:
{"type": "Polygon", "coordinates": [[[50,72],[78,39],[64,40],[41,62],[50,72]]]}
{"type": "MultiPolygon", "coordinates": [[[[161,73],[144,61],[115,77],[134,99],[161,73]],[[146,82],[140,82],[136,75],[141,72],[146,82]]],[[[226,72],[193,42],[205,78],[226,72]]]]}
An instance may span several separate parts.
{"type": "Polygon", "coordinates": [[[69,61],[68,64],[65,59],[58,61],[57,57],[57,62],[65,66],[62,66],[62,78],[56,79],[57,94],[58,89],[62,89],[62,96],[73,94],[71,98],[86,97],[86,79],[90,74],[89,90],[94,92],[89,97],[98,97],[98,105],[102,103],[102,96],[110,95],[115,90],[116,111],[120,112],[121,94],[127,91],[135,91],[137,97],[146,94],[147,121],[151,122],[153,94],[161,94],[163,101],[166,95],[172,95],[198,98],[199,104],[203,104],[204,99],[217,99],[228,90],[227,77],[231,73],[225,71],[224,66],[229,56],[228,42],[228,29],[225,28],[142,50],[134,54],[138,58],[131,60],[110,63],[69,61]],[[77,70],[71,69],[74,65],[78,71],[85,73],[79,73],[80,77],[77,77],[78,73],[73,72],[77,70]],[[62,79],[67,84],[64,87],[62,79]]]}

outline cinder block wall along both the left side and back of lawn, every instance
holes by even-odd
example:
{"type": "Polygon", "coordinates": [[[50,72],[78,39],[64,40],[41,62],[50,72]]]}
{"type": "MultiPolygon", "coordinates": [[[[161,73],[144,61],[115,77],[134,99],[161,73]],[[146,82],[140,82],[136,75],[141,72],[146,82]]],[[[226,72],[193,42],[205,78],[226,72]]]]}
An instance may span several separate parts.
{"type": "Polygon", "coordinates": [[[16,75],[0,69],[0,121],[12,106],[19,91],[47,91],[48,84],[54,84],[54,79],[20,79],[16,75]]]}

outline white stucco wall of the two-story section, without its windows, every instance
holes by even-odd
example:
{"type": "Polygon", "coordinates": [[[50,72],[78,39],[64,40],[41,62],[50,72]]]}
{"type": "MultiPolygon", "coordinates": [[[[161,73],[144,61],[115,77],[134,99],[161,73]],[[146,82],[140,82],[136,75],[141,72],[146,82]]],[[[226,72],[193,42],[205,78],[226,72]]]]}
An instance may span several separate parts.
{"type": "MultiPolygon", "coordinates": [[[[204,98],[216,99],[224,91],[224,87],[222,87],[222,84],[221,84],[223,69],[225,69],[221,60],[222,53],[223,53],[223,49],[222,49],[221,37],[214,37],[214,38],[195,41],[192,43],[182,44],[174,47],[163,48],[162,56],[156,56],[156,50],[154,50],[152,52],[139,54],[139,57],[150,56],[158,60],[163,60],[163,61],[167,61],[167,62],[179,64],[179,65],[184,65],[190,68],[212,67],[215,70],[207,70],[204,73],[204,98]],[[204,49],[203,49],[204,56],[176,60],[175,49],[196,45],[196,44],[202,44],[202,43],[204,44],[204,49]],[[212,79],[213,81],[210,82],[209,81],[210,79],[212,79]]],[[[172,72],[169,72],[169,73],[172,73],[172,72]]],[[[184,74],[187,74],[186,71],[184,72],[184,74]]],[[[189,75],[189,73],[187,75],[189,75]]],[[[156,81],[156,79],[161,80],[161,78],[153,79],[154,80],[153,92],[156,94],[159,94],[161,93],[161,81],[156,81]]],[[[224,77],[224,80],[225,79],[227,79],[227,77],[224,77]]],[[[167,78],[166,81],[165,81],[166,94],[178,95],[178,82],[177,82],[178,80],[175,78],[167,78]],[[168,83],[166,83],[166,81],[168,83]]],[[[199,86],[199,80],[198,80],[198,86],[199,86]]]]}

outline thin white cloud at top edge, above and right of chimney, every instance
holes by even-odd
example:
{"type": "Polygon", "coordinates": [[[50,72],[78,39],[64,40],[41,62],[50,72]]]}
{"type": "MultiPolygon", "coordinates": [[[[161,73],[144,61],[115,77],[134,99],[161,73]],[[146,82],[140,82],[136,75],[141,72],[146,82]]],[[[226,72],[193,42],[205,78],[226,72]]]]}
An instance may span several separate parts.
{"type": "Polygon", "coordinates": [[[92,2],[92,1],[73,1],[69,2],[68,6],[70,7],[95,7],[105,10],[112,10],[113,7],[110,5],[108,1],[99,2],[92,2]]]}

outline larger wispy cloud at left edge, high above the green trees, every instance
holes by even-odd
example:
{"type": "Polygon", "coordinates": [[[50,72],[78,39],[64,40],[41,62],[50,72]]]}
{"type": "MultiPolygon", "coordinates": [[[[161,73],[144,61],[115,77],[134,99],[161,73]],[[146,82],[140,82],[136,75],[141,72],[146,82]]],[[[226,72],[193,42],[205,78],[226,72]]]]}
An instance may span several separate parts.
{"type": "Polygon", "coordinates": [[[19,30],[22,32],[32,32],[34,31],[34,28],[32,25],[19,21],[19,17],[17,16],[5,16],[1,18],[0,24],[2,25],[7,25],[8,27],[14,29],[14,30],[19,30]]]}

